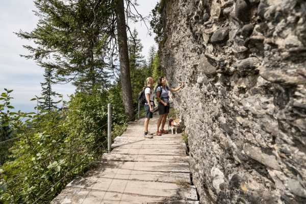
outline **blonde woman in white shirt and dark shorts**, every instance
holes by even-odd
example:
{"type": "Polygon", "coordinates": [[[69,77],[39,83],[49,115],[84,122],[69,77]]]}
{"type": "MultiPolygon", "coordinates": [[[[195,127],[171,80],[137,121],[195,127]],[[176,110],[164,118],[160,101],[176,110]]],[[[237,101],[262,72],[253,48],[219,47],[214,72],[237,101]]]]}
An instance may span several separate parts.
{"type": "Polygon", "coordinates": [[[144,93],[145,93],[145,104],[144,104],[144,110],[145,110],[145,121],[144,121],[144,137],[145,138],[153,138],[151,135],[152,133],[149,133],[148,126],[149,126],[149,120],[150,118],[153,118],[153,93],[152,93],[152,86],[154,84],[154,79],[151,77],[148,77],[146,81],[144,82],[144,93]]]}

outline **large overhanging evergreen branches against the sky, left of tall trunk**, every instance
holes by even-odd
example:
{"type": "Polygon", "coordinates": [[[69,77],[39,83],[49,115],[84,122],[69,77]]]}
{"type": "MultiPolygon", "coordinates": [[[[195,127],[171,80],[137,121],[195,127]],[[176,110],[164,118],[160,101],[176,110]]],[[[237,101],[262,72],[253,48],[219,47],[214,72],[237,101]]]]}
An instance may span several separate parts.
{"type": "Polygon", "coordinates": [[[36,44],[24,46],[32,54],[23,57],[54,70],[57,81],[71,81],[77,89],[106,85],[117,50],[114,1],[35,0],[34,4],[40,17],[37,28],[17,33],[36,44]]]}

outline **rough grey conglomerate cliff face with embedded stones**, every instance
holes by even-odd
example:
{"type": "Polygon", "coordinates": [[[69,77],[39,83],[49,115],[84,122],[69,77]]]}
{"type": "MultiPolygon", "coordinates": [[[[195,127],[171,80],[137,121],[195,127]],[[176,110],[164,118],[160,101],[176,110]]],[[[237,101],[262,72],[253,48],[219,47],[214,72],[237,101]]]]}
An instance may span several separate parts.
{"type": "Polygon", "coordinates": [[[306,203],[304,0],[168,0],[160,63],[201,203],[306,203]]]}

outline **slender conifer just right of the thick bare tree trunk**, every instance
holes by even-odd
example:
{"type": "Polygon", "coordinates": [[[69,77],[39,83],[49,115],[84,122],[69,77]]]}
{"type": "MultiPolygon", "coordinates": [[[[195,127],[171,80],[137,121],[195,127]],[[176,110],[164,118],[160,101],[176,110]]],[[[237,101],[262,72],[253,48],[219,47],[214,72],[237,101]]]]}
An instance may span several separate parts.
{"type": "Polygon", "coordinates": [[[132,36],[129,37],[127,45],[129,48],[129,60],[131,70],[131,85],[133,99],[137,101],[138,92],[143,87],[144,74],[141,70],[144,61],[144,56],[141,55],[143,45],[141,40],[137,38],[138,32],[134,29],[132,36]]]}

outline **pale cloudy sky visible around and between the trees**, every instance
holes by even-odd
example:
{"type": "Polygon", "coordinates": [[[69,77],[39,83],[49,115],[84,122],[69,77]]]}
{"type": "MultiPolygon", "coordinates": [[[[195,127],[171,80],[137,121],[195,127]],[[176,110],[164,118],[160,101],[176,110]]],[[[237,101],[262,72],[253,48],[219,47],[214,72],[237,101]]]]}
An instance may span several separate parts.
{"type": "MultiPolygon", "coordinates": [[[[137,0],[138,12],[144,16],[149,15],[158,0],[137,0]]],[[[27,60],[19,55],[30,54],[22,45],[34,45],[33,42],[22,40],[14,33],[19,30],[31,32],[38,22],[34,15],[36,10],[33,0],[0,0],[0,93],[4,88],[14,90],[11,93],[11,105],[14,111],[32,112],[35,101],[32,98],[41,96],[41,85],[44,81],[44,69],[38,66],[34,60],[27,60]]],[[[149,27],[149,23],[147,23],[149,27]]],[[[147,58],[149,47],[156,45],[154,34],[149,36],[144,23],[129,23],[132,30],[136,28],[138,38],[143,44],[142,55],[147,58]]],[[[69,100],[67,95],[74,93],[74,87],[70,84],[53,85],[52,89],[63,94],[64,100],[69,100]]]]}

